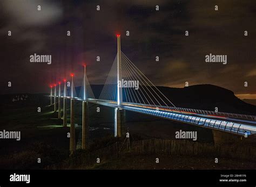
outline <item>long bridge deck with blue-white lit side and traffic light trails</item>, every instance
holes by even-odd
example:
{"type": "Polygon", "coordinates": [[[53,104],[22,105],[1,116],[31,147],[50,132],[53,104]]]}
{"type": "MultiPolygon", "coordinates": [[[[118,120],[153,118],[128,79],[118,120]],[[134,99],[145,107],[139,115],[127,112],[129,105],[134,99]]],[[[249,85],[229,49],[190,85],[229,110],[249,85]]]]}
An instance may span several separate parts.
{"type": "MultiPolygon", "coordinates": [[[[66,97],[70,98],[71,97],[66,97]]],[[[83,101],[81,98],[73,98],[76,100],[83,101]]],[[[187,123],[192,125],[197,125],[205,128],[211,128],[214,130],[224,131],[227,133],[239,134],[239,135],[251,135],[256,134],[255,121],[250,120],[240,120],[235,118],[226,118],[219,116],[206,116],[204,114],[197,114],[185,111],[177,111],[170,109],[157,109],[152,106],[145,106],[143,104],[131,104],[123,103],[122,105],[117,105],[117,102],[112,101],[102,101],[98,99],[87,99],[90,103],[95,103],[99,105],[109,106],[109,107],[118,107],[120,109],[139,112],[148,114],[151,116],[156,116],[165,119],[171,119],[181,123],[187,123]]]]}

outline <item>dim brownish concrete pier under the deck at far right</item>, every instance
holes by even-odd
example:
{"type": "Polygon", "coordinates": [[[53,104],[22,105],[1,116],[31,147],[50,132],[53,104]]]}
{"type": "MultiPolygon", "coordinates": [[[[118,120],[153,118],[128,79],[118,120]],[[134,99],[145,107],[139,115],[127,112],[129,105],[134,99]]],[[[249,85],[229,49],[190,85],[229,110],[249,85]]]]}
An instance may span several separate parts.
{"type": "Polygon", "coordinates": [[[244,137],[237,135],[237,134],[231,134],[226,133],[218,130],[212,130],[213,140],[215,145],[220,144],[232,144],[238,141],[241,141],[244,139],[244,137]]]}

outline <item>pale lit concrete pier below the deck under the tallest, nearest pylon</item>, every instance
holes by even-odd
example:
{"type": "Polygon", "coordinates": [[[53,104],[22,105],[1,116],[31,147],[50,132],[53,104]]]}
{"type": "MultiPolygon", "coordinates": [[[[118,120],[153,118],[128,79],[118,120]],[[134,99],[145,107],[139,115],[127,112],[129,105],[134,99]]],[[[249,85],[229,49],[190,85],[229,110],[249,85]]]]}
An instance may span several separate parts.
{"type": "Polygon", "coordinates": [[[114,137],[122,136],[122,128],[125,124],[125,110],[114,109],[114,137]]]}

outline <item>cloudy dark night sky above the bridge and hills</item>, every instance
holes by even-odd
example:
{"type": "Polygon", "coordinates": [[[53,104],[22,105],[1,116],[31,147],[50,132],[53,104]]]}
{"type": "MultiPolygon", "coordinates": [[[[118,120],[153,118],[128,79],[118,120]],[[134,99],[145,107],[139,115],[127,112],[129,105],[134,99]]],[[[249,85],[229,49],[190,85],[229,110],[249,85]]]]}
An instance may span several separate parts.
{"type": "Polygon", "coordinates": [[[121,34],[123,53],[155,85],[214,84],[256,99],[255,24],[255,0],[1,0],[0,93],[46,92],[70,73],[81,85],[83,63],[90,83],[104,84],[121,34]],[[52,63],[31,63],[34,53],[52,55],[52,63]],[[206,63],[210,53],[227,55],[227,64],[206,63]]]}

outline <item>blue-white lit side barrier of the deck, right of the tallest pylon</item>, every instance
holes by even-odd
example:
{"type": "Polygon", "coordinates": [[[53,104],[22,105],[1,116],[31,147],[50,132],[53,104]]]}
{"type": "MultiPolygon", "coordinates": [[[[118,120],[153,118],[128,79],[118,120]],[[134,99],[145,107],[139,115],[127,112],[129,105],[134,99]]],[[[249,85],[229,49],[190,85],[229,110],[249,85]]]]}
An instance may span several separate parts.
{"type": "Polygon", "coordinates": [[[206,128],[212,128],[215,130],[225,131],[229,133],[239,135],[251,135],[256,133],[256,126],[232,123],[230,121],[207,119],[201,117],[190,116],[188,114],[180,114],[174,112],[158,111],[153,109],[145,109],[142,107],[123,106],[125,110],[136,111],[140,113],[149,114],[151,116],[157,116],[167,119],[176,120],[183,123],[198,125],[206,128]]]}

